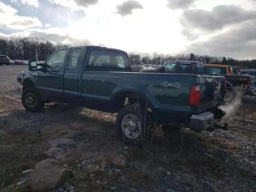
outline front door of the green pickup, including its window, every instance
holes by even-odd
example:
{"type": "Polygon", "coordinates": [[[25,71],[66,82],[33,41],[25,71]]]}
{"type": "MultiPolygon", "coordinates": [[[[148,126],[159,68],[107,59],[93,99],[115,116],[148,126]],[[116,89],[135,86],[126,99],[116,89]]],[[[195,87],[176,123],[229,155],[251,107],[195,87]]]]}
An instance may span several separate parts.
{"type": "Polygon", "coordinates": [[[63,74],[68,48],[54,52],[45,62],[44,72],[38,72],[37,88],[45,100],[64,102],[63,74]]]}

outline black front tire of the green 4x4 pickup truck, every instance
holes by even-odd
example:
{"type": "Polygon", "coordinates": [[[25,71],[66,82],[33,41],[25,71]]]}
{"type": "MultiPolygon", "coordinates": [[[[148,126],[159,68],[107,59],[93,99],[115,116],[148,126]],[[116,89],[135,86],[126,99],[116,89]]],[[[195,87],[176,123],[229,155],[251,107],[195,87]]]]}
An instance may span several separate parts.
{"type": "Polygon", "coordinates": [[[40,112],[44,108],[43,100],[38,96],[34,88],[26,88],[21,95],[21,100],[24,108],[31,112],[40,112]],[[29,105],[29,102],[32,102],[29,105]]]}

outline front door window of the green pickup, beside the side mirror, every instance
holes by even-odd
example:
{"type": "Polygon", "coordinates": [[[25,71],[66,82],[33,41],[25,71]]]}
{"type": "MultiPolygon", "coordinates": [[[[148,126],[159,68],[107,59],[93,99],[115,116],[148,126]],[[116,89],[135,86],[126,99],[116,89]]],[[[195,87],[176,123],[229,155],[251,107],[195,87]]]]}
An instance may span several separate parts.
{"type": "Polygon", "coordinates": [[[46,61],[46,68],[62,68],[67,51],[68,50],[59,50],[59,51],[55,52],[46,61]]]}

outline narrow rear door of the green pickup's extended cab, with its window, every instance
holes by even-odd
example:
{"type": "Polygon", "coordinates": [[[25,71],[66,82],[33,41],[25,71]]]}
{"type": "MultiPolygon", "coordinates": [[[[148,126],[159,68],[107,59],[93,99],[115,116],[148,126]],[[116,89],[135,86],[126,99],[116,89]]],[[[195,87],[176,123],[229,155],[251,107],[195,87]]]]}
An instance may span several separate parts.
{"type": "Polygon", "coordinates": [[[70,50],[64,73],[64,100],[67,103],[81,103],[79,70],[84,47],[74,47],[70,50]]]}

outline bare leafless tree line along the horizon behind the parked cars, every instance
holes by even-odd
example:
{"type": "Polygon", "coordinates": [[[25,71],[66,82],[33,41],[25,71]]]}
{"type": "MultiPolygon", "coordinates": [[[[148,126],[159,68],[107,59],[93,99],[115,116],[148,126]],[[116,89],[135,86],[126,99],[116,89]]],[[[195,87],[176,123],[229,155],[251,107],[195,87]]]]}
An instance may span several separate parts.
{"type": "MultiPolygon", "coordinates": [[[[71,46],[70,44],[52,43],[45,39],[18,37],[18,38],[0,38],[0,54],[6,54],[10,59],[28,60],[29,58],[37,58],[38,60],[46,60],[52,52],[58,48],[71,46]]],[[[234,58],[216,57],[209,55],[170,54],[141,55],[129,53],[130,60],[133,63],[157,64],[162,65],[168,60],[192,60],[200,61],[205,64],[224,64],[231,66],[243,66],[246,68],[256,68],[256,60],[237,60],[234,58]]]]}

